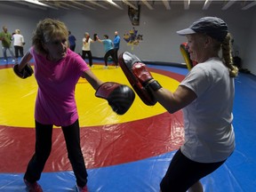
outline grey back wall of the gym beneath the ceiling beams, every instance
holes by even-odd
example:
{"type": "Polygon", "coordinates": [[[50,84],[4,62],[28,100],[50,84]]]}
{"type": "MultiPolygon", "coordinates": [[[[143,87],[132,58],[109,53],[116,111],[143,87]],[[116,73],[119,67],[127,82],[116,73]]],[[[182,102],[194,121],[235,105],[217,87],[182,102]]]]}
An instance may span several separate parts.
{"type": "MultiPolygon", "coordinates": [[[[1,3],[0,3],[1,4],[1,3]]],[[[148,10],[146,6],[140,9],[140,26],[135,27],[138,33],[143,35],[144,41],[139,46],[127,46],[123,39],[124,33],[132,29],[132,23],[128,17],[127,9],[109,10],[97,8],[97,11],[48,11],[38,9],[13,8],[2,4],[0,6],[0,26],[7,25],[9,31],[20,28],[26,41],[30,37],[36,22],[44,17],[57,18],[63,20],[72,34],[76,36],[76,52],[82,50],[82,39],[84,32],[89,32],[91,36],[97,33],[100,38],[107,34],[111,39],[115,30],[119,31],[122,38],[120,52],[129,51],[137,54],[141,60],[162,61],[171,63],[184,62],[180,55],[180,43],[186,41],[186,37],[178,36],[177,30],[187,28],[194,20],[204,16],[217,16],[228,23],[229,31],[235,38],[235,51],[239,51],[242,58],[243,67],[253,71],[255,74],[255,32],[256,32],[256,7],[242,11],[239,4],[234,4],[226,11],[221,10],[222,4],[212,4],[207,11],[202,10],[202,4],[192,4],[190,9],[185,11],[183,4],[173,4],[170,11],[164,9],[164,5],[155,5],[155,10],[148,10]],[[15,9],[15,10],[14,10],[15,9]],[[249,36],[250,34],[250,36],[249,36]],[[254,44],[253,44],[254,43],[254,44]],[[251,47],[250,49],[247,49],[251,47]]],[[[30,41],[31,43],[31,41],[30,41]]],[[[26,44],[25,49],[28,49],[26,44]]],[[[103,45],[92,44],[92,55],[103,57],[103,45]]],[[[0,57],[3,53],[0,52],[0,57]]]]}

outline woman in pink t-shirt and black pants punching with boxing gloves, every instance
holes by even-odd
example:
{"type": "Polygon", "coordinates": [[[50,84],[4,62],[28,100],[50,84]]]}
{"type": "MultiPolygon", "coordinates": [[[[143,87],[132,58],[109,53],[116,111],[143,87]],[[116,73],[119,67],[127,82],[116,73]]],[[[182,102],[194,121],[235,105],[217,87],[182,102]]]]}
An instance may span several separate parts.
{"type": "Polygon", "coordinates": [[[80,146],[75,100],[76,83],[80,76],[84,77],[97,91],[96,96],[108,100],[108,104],[119,115],[123,115],[130,108],[135,94],[128,86],[112,82],[102,83],[94,76],[80,55],[68,48],[68,28],[60,20],[39,21],[32,44],[20,64],[13,68],[17,76],[26,78],[33,74],[28,61],[32,58],[35,60],[38,84],[35,109],[36,151],[28,163],[24,182],[30,192],[43,191],[36,181],[40,179],[44,164],[50,156],[52,127],[57,125],[61,126],[64,133],[68,159],[76,176],[77,191],[87,192],[87,172],[80,146]],[[119,100],[122,95],[125,102],[119,100]]]}

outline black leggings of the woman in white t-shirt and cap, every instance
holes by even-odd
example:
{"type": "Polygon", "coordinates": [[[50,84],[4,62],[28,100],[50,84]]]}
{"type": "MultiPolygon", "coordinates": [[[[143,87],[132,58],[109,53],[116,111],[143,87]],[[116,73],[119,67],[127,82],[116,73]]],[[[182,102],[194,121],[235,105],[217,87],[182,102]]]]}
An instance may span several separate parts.
{"type": "Polygon", "coordinates": [[[211,164],[194,162],[184,156],[179,149],[160,183],[161,191],[186,192],[198,180],[214,172],[225,161],[211,164]]]}

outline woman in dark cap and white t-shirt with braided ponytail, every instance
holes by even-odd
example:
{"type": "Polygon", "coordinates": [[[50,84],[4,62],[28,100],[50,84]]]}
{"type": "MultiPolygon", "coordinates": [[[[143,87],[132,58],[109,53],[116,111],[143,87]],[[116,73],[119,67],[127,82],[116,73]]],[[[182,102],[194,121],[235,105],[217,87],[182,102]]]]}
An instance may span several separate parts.
{"type": "Polygon", "coordinates": [[[235,149],[232,110],[238,69],[232,64],[231,36],[223,20],[204,17],[177,33],[187,36],[190,59],[198,64],[175,92],[160,86],[153,92],[170,113],[182,108],[185,124],[185,142],[173,156],[160,187],[162,192],[202,192],[200,180],[218,169],[235,149]]]}

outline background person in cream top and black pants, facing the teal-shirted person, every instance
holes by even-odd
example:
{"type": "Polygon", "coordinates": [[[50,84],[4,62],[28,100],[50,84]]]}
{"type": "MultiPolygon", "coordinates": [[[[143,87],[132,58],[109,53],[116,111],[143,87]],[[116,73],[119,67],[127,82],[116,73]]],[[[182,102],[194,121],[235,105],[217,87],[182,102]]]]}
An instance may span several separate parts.
{"type": "Polygon", "coordinates": [[[92,68],[92,52],[91,52],[91,43],[94,43],[90,34],[85,32],[83,38],[83,47],[82,47],[82,58],[85,60],[86,55],[88,55],[89,66],[92,68]]]}

